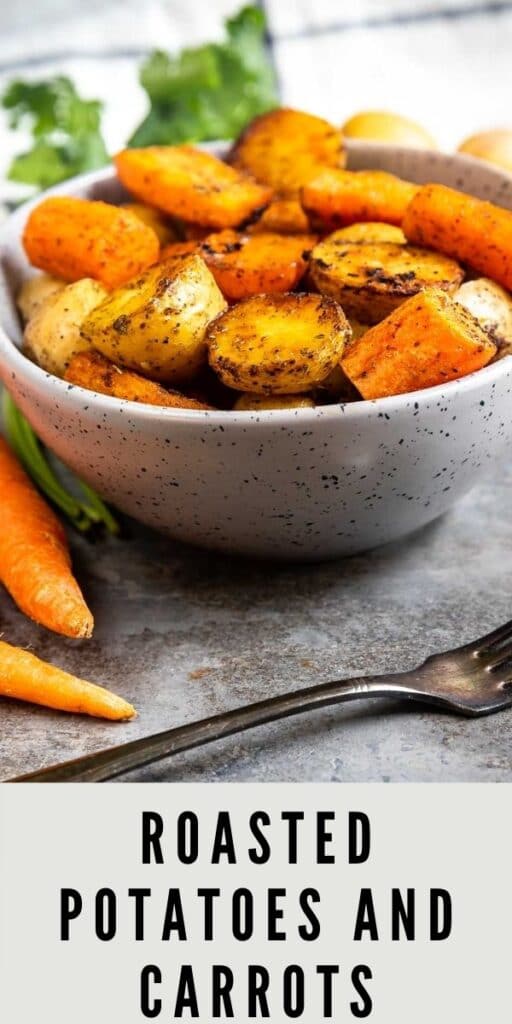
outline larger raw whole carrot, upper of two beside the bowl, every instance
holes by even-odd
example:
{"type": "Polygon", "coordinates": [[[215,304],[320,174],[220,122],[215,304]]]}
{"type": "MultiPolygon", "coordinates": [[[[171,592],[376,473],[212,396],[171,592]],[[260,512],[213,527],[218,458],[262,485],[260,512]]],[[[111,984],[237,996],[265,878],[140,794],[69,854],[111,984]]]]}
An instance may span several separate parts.
{"type": "Polygon", "coordinates": [[[60,522],[0,438],[0,581],[18,608],[68,637],[90,637],[94,621],[71,568],[60,522]]]}

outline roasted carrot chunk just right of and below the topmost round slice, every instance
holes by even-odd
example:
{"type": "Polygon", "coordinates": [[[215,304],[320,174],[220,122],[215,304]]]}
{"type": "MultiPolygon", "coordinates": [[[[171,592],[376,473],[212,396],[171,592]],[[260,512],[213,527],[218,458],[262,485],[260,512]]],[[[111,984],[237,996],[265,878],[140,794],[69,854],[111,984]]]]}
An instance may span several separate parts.
{"type": "Polygon", "coordinates": [[[322,171],[302,189],[302,205],[314,226],[342,227],[355,221],[401,224],[418,185],[386,171],[322,171]]]}

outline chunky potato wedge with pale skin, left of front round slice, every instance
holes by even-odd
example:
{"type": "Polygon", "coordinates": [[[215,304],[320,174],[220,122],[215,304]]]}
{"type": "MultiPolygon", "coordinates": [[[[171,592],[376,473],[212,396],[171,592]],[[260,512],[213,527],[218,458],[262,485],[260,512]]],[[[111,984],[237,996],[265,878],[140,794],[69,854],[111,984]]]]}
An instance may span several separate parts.
{"type": "Polygon", "coordinates": [[[225,307],[208,267],[193,254],[159,263],[113,292],[82,325],[82,338],[113,362],[182,383],[206,362],[206,328],[225,307]]]}

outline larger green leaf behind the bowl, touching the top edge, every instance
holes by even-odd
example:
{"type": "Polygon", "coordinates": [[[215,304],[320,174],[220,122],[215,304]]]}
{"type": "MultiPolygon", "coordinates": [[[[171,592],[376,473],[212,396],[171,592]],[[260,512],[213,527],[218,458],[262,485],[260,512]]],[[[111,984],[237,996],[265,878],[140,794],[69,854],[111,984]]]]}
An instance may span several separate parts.
{"type": "Polygon", "coordinates": [[[151,106],[129,145],[233,138],[278,103],[265,45],[265,17],[244,7],[226,24],[226,40],[171,56],[156,50],[140,70],[151,106]]]}

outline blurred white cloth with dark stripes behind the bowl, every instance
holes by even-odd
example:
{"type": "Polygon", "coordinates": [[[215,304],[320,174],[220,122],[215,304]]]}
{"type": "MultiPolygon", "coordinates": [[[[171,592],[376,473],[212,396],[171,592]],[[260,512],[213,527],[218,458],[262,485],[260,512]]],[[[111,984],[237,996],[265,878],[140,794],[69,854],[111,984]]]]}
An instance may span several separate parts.
{"type": "MultiPolygon", "coordinates": [[[[224,19],[243,0],[0,0],[0,6],[2,93],[13,79],[69,76],[81,96],[104,104],[101,132],[112,152],[150,109],[139,82],[147,53],[179,54],[221,41],[224,19]]],[[[265,0],[257,6],[284,103],[336,123],[366,109],[399,112],[442,148],[482,129],[512,127],[512,3],[265,0]]],[[[173,88],[172,70],[166,87],[173,88]]],[[[0,116],[0,200],[24,193],[24,183],[7,175],[13,156],[27,150],[31,122],[17,116],[14,130],[10,116],[10,126],[9,112],[0,116]]]]}

